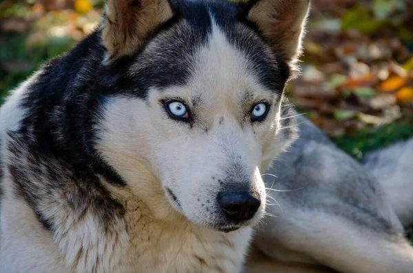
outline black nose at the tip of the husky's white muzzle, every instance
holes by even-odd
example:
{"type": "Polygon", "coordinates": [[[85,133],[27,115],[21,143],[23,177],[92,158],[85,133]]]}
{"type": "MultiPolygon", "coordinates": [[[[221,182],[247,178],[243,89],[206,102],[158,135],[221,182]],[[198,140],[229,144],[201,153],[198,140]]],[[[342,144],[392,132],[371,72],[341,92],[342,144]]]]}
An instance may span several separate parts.
{"type": "Polygon", "coordinates": [[[251,219],[261,205],[261,200],[247,191],[222,191],[218,201],[226,217],[234,223],[251,219]]]}

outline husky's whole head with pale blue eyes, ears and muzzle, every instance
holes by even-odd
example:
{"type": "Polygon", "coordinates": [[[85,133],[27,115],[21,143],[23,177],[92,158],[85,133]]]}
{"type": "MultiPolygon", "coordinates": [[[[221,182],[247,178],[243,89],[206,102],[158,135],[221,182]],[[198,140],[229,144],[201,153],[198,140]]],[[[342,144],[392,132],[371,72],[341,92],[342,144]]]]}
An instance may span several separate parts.
{"type": "Polygon", "coordinates": [[[308,2],[108,1],[97,146],[140,198],[216,230],[262,217],[308,2]]]}

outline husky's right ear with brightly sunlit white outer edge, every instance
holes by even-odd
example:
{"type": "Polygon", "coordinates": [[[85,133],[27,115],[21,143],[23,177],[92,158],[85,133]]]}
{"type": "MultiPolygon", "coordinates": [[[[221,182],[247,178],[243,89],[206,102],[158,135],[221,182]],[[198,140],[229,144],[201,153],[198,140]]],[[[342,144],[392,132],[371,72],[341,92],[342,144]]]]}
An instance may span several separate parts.
{"type": "Polygon", "coordinates": [[[310,0],[251,0],[240,11],[254,23],[267,43],[292,65],[301,53],[301,39],[310,0]]]}

